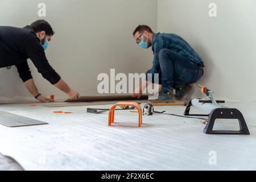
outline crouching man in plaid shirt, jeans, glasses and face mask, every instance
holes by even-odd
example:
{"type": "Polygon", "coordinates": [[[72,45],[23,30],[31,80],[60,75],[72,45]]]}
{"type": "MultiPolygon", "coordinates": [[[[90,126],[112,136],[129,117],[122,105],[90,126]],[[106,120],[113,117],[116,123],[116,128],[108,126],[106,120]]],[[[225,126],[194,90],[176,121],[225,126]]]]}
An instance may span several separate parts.
{"type": "MultiPolygon", "coordinates": [[[[152,68],[147,72],[159,74],[160,93],[158,100],[152,102],[174,102],[182,100],[191,90],[191,85],[203,76],[204,63],[191,46],[176,34],[154,34],[146,25],[138,26],[134,38],[141,48],[150,48],[154,52],[152,68]],[[175,93],[175,94],[174,94],[175,93]]],[[[141,97],[142,90],[150,84],[145,81],[136,90],[134,97],[141,97]]]]}

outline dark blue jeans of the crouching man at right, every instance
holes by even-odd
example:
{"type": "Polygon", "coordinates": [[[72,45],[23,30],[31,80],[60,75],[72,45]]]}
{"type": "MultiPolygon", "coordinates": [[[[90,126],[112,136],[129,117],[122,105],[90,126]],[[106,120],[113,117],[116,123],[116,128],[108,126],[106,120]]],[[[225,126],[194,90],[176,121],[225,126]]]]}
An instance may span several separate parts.
{"type": "Polygon", "coordinates": [[[203,76],[204,70],[187,57],[170,49],[159,52],[160,83],[163,88],[179,88],[193,84],[203,76]]]}

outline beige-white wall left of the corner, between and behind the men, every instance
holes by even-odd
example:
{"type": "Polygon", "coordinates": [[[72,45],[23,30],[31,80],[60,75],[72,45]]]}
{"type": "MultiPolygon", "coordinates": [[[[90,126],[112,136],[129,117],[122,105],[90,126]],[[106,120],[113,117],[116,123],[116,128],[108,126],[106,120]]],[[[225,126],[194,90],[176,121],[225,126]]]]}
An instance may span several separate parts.
{"type": "MultiPolygon", "coordinates": [[[[41,2],[47,5],[47,16],[43,19],[56,32],[47,49],[48,60],[82,95],[95,95],[98,74],[109,73],[110,68],[123,73],[142,73],[150,68],[151,51],[142,51],[132,33],[142,23],[156,30],[156,0],[1,0],[0,25],[24,27],[41,19],[41,2]]],[[[42,94],[66,97],[44,80],[34,65],[30,66],[42,94]]],[[[1,68],[0,100],[28,96],[16,68],[1,68]]]]}

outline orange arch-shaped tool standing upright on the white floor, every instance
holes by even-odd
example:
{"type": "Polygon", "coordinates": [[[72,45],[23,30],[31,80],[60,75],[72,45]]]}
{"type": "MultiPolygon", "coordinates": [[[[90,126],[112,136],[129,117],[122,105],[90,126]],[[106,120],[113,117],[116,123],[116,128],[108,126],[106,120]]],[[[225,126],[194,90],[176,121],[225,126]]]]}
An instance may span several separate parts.
{"type": "Polygon", "coordinates": [[[142,109],[141,109],[141,106],[137,102],[118,102],[117,104],[112,106],[111,109],[109,110],[109,121],[108,121],[109,126],[114,123],[115,108],[117,106],[123,106],[123,107],[134,106],[138,110],[138,113],[139,113],[139,127],[142,126],[142,109]]]}

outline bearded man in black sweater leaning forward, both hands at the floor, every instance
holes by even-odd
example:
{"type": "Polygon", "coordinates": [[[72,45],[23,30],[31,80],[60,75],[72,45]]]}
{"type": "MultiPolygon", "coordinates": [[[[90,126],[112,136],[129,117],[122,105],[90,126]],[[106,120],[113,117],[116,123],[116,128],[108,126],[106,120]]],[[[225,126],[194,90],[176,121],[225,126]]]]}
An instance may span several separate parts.
{"type": "Polygon", "coordinates": [[[27,59],[31,59],[44,78],[65,92],[69,99],[76,100],[80,94],[65,84],[44,53],[54,33],[46,20],[37,20],[24,28],[0,26],[0,68],[15,65],[28,91],[41,102],[52,102],[41,96],[35,86],[27,63],[27,59]]]}

